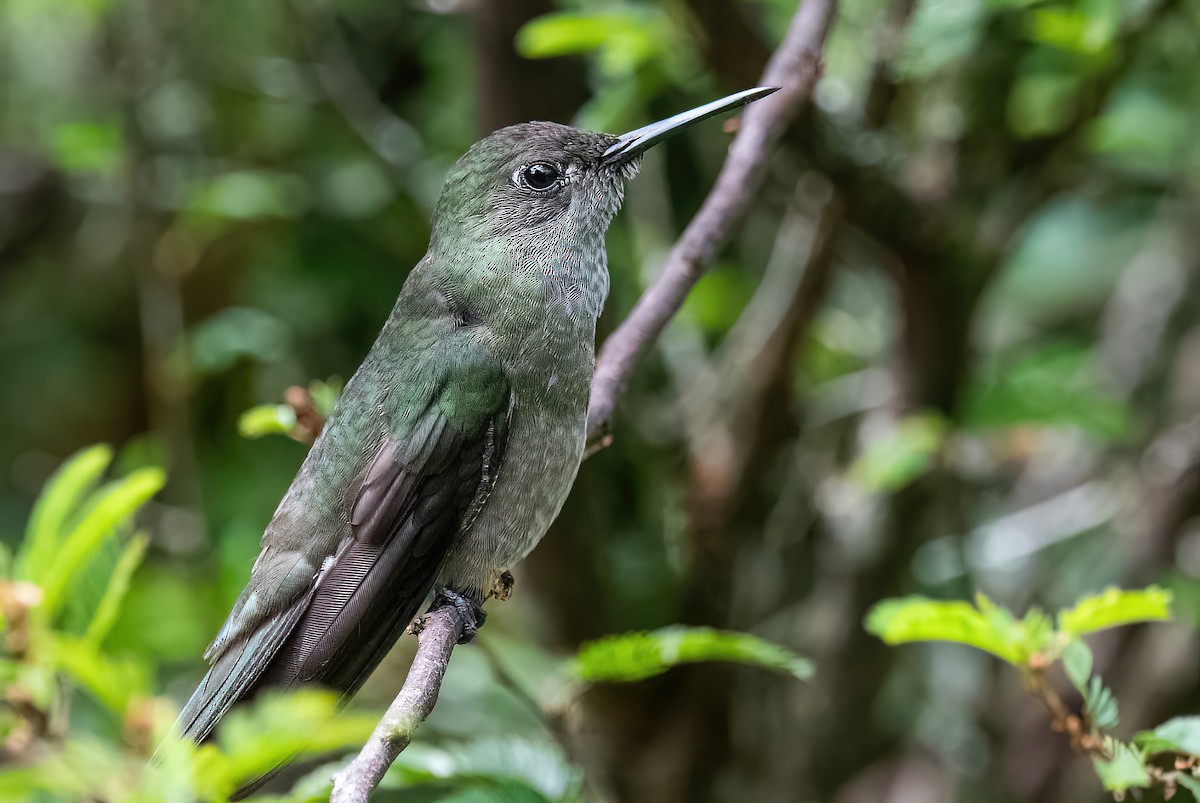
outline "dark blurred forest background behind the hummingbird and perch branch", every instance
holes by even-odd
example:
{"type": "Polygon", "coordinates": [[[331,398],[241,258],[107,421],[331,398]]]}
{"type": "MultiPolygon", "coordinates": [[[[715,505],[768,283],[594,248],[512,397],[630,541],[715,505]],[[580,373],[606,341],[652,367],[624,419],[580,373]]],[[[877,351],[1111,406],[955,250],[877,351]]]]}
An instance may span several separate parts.
{"type": "MultiPolygon", "coordinates": [[[[751,86],[794,7],[0,1],[0,535],[82,447],[164,468],[104,649],[178,706],[306,449],[242,414],[354,371],[454,160],[511,122],[620,132],[751,86]]],[[[1055,610],[1158,582],[1176,622],[1093,640],[1097,670],[1126,736],[1195,712],[1198,131],[1196,0],[842,2],[740,234],[409,762],[524,756],[620,802],[1108,799],[1016,675],[862,621],[905,593],[1055,610]],[[703,664],[530,713],[557,657],[672,623],[816,676],[703,664]]],[[[601,337],[727,142],[713,121],[646,158],[601,337]]],[[[70,727],[128,721],[84,702],[70,727]]]]}

